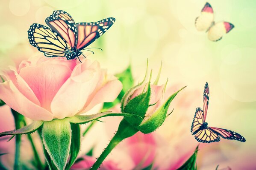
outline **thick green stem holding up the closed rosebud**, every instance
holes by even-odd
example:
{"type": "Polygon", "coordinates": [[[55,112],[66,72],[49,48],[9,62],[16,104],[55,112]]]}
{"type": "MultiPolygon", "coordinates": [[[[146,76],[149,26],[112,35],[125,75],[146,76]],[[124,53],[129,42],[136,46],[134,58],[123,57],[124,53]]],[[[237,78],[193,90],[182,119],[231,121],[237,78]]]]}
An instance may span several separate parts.
{"type": "Polygon", "coordinates": [[[115,133],[114,137],[109,142],[108,146],[105,148],[103,153],[91,167],[91,170],[97,170],[104,159],[109,155],[109,153],[124,139],[134,135],[138,130],[132,127],[125,119],[123,119],[118,127],[118,131],[115,133]]]}

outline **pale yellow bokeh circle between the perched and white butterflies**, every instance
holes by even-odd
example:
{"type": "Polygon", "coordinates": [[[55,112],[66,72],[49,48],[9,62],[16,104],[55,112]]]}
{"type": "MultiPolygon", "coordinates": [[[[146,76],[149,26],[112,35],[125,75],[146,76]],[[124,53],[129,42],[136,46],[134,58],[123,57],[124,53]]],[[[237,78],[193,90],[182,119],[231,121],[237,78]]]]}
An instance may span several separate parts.
{"type": "Polygon", "coordinates": [[[147,16],[144,21],[145,34],[153,40],[160,40],[170,30],[169,22],[160,16],[147,16]]]}

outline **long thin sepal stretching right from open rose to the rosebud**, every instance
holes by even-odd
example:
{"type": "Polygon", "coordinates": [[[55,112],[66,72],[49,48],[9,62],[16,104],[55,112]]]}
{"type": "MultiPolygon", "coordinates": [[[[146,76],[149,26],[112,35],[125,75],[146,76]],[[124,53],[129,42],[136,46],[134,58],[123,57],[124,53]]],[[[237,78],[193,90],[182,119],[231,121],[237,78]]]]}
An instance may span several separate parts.
{"type": "Polygon", "coordinates": [[[133,115],[129,113],[103,112],[103,113],[97,113],[97,114],[91,114],[91,115],[77,115],[77,116],[72,116],[66,119],[68,119],[68,121],[71,123],[85,124],[106,116],[133,116],[133,115]]]}

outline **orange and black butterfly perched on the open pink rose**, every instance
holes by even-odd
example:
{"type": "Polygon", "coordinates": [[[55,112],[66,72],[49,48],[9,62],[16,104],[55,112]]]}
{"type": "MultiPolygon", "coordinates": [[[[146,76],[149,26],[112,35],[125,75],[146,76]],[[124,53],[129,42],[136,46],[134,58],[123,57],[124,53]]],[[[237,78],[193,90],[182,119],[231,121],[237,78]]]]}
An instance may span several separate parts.
{"type": "Polygon", "coordinates": [[[82,54],[83,48],[104,34],[115,23],[115,18],[76,24],[67,12],[53,11],[45,22],[50,28],[41,24],[30,26],[28,31],[30,44],[43,52],[46,57],[74,59],[82,54]]]}

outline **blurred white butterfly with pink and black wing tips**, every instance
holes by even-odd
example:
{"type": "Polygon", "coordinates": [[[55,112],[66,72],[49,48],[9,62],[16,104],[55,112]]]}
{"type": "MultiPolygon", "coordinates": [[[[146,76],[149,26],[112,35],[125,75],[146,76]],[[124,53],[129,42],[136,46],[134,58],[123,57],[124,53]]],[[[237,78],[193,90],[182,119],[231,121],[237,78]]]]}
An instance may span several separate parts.
{"type": "Polygon", "coordinates": [[[208,38],[211,41],[221,40],[224,34],[227,34],[234,25],[228,22],[214,22],[212,6],[206,3],[201,11],[201,15],[196,18],[195,26],[198,31],[208,31],[208,38]]]}

